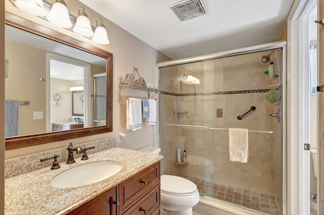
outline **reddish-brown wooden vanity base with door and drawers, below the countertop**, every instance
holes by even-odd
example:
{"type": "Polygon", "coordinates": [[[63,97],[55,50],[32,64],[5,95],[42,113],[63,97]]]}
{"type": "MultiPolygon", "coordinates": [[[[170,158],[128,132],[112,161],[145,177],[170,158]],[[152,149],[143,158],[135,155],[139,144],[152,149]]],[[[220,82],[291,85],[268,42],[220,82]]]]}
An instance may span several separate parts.
{"type": "Polygon", "coordinates": [[[157,162],[68,214],[158,215],[159,209],[160,162],[157,162]]]}

